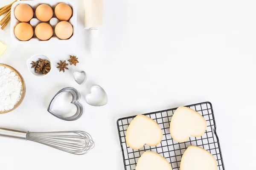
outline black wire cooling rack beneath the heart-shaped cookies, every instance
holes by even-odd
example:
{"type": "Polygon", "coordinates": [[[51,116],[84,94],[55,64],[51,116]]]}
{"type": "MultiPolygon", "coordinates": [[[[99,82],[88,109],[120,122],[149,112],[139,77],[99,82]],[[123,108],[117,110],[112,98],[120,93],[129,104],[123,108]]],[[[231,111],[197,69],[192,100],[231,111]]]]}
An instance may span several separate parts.
{"type": "Polygon", "coordinates": [[[117,128],[119,132],[120,144],[122,147],[122,156],[125,170],[135,170],[138,159],[147,150],[159,153],[167,161],[169,161],[173,170],[180,170],[181,157],[186,148],[190,145],[199,146],[209,151],[217,160],[217,170],[225,170],[221,154],[221,147],[216,133],[216,124],[212,104],[210,102],[203,102],[194,105],[188,105],[186,107],[192,108],[204,116],[204,119],[207,122],[207,130],[203,136],[191,136],[189,140],[182,143],[173,140],[169,130],[172,115],[177,108],[144,114],[156,121],[162,129],[163,139],[161,143],[155,147],[144,145],[144,147],[140,148],[139,150],[134,150],[131,147],[128,147],[125,142],[126,131],[128,125],[136,116],[125,117],[117,120],[117,128]]]}

